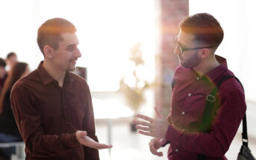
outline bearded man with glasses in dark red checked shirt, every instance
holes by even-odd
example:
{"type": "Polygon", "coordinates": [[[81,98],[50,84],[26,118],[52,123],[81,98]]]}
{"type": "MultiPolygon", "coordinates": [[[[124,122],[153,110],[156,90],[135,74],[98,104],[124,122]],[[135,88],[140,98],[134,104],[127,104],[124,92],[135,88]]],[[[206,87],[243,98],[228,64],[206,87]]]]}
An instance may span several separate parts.
{"type": "Polygon", "coordinates": [[[225,80],[219,87],[219,108],[207,132],[193,129],[202,123],[207,95],[228,70],[225,58],[215,55],[224,33],[219,22],[210,14],[198,13],[188,16],[179,25],[175,38],[180,65],[172,80],[172,103],[168,118],[156,108],[158,119],[137,115],[145,121],[134,121],[140,134],[154,138],[150,151],[170,144],[169,160],[222,160],[236,135],[246,112],[245,95],[235,78],[225,80]]]}

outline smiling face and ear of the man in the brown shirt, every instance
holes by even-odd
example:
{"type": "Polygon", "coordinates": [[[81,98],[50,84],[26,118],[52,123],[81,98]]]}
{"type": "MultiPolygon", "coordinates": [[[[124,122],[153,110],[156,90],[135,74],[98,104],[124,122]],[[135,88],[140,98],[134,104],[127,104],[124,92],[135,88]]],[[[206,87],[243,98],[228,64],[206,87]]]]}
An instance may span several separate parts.
{"type": "Polygon", "coordinates": [[[54,49],[46,46],[46,57],[57,71],[74,71],[76,60],[81,57],[75,33],[62,33],[63,40],[54,49]]]}

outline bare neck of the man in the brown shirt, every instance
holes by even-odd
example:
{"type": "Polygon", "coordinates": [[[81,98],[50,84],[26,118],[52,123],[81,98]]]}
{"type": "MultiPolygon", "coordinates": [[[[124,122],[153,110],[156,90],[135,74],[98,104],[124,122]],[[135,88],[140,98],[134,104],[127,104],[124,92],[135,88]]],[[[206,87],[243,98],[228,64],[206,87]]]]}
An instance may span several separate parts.
{"type": "Polygon", "coordinates": [[[43,61],[43,68],[46,69],[54,80],[57,80],[60,87],[63,86],[66,71],[57,70],[56,67],[54,67],[54,65],[49,63],[47,60],[43,61]]]}

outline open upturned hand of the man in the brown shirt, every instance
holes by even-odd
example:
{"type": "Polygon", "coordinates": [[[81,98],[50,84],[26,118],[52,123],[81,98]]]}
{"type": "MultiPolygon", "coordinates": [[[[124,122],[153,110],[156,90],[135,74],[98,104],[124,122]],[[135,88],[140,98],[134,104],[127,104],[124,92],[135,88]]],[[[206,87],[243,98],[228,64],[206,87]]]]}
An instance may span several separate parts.
{"type": "Polygon", "coordinates": [[[76,138],[78,139],[78,142],[87,147],[95,148],[98,150],[112,147],[112,145],[110,144],[100,144],[99,142],[94,141],[92,138],[87,136],[86,131],[78,130],[75,132],[75,135],[76,135],[76,138]]]}

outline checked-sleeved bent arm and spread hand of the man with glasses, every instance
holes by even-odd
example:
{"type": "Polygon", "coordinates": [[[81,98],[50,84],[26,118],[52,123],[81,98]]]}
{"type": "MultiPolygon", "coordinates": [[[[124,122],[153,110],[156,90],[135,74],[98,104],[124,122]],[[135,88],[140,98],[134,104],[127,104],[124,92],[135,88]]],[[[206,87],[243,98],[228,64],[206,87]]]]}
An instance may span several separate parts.
{"type": "Polygon", "coordinates": [[[187,133],[173,125],[167,126],[163,118],[156,120],[144,115],[138,117],[146,122],[134,121],[134,123],[139,125],[137,128],[141,129],[139,132],[143,135],[166,138],[170,143],[175,143],[191,152],[220,157],[227,152],[245,112],[246,102],[243,93],[238,89],[227,89],[222,95],[222,106],[210,132],[187,133]],[[159,129],[160,126],[162,129],[159,129]]]}

